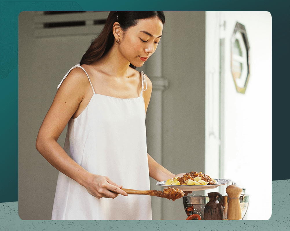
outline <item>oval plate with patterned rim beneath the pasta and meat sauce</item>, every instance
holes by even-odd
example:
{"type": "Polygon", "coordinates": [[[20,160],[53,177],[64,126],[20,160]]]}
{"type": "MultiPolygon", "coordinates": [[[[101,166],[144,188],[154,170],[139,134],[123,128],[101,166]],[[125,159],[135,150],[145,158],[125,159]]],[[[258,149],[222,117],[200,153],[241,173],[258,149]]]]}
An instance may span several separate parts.
{"type": "Polygon", "coordinates": [[[208,190],[217,188],[218,186],[229,184],[232,180],[229,179],[215,179],[218,183],[217,184],[208,184],[208,185],[166,185],[166,181],[157,182],[156,185],[163,186],[163,187],[170,187],[170,188],[178,188],[182,191],[199,191],[199,190],[208,190]]]}

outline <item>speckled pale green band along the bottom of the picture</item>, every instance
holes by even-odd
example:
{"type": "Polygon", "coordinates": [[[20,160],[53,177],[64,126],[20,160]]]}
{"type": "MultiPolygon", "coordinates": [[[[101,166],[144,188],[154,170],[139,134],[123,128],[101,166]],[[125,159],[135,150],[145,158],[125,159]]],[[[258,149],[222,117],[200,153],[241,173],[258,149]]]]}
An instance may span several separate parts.
{"type": "Polygon", "coordinates": [[[139,230],[139,231],[255,231],[290,230],[290,180],[272,181],[272,216],[266,221],[26,221],[18,216],[18,202],[0,203],[0,230],[139,230]],[[193,226],[193,223],[194,226],[193,226]],[[194,227],[194,229],[193,229],[194,227]]]}

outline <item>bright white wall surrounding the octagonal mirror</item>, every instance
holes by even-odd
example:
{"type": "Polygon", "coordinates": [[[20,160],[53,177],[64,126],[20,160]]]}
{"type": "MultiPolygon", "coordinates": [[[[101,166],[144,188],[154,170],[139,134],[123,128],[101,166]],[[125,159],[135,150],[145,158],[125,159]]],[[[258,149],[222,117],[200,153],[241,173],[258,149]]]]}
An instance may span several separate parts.
{"type": "MultiPolygon", "coordinates": [[[[224,160],[220,177],[232,179],[250,195],[247,219],[269,219],[271,216],[272,155],[272,68],[271,14],[269,12],[221,12],[226,21],[225,76],[221,93],[224,115],[221,137],[224,160]],[[245,94],[235,89],[230,66],[230,38],[236,22],[243,24],[250,45],[251,75],[245,94]]],[[[206,13],[206,20],[215,20],[206,13]]],[[[210,33],[210,32],[209,32],[210,33]]],[[[219,38],[217,38],[219,39],[219,38]]],[[[206,162],[206,168],[211,163],[206,162]]],[[[225,192],[225,191],[224,191],[225,192]]]]}

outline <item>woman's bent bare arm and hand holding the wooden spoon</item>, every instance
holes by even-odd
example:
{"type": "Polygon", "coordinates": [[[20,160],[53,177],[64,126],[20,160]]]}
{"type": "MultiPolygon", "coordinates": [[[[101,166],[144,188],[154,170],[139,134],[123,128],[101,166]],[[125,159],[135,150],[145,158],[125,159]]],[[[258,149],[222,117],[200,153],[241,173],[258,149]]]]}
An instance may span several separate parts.
{"type": "Polygon", "coordinates": [[[66,124],[87,96],[88,89],[91,91],[84,71],[80,68],[73,69],[61,84],[41,124],[36,148],[52,166],[84,186],[91,195],[97,198],[115,198],[117,193],[127,195],[120,189],[122,186],[115,184],[108,177],[89,173],[71,159],[57,143],[66,124]]]}

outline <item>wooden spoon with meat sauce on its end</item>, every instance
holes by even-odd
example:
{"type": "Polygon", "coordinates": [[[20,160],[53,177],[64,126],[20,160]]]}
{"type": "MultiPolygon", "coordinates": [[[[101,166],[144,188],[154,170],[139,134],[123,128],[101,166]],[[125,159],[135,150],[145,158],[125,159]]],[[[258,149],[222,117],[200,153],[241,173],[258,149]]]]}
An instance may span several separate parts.
{"type": "Polygon", "coordinates": [[[175,201],[176,199],[179,199],[184,196],[184,192],[180,189],[175,188],[165,188],[162,191],[158,190],[134,190],[134,189],[128,189],[128,188],[122,188],[125,192],[128,194],[140,194],[140,195],[149,195],[149,196],[155,196],[155,197],[165,197],[167,199],[171,199],[175,201]]]}

